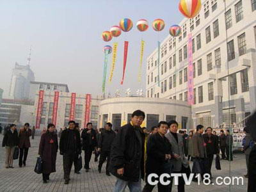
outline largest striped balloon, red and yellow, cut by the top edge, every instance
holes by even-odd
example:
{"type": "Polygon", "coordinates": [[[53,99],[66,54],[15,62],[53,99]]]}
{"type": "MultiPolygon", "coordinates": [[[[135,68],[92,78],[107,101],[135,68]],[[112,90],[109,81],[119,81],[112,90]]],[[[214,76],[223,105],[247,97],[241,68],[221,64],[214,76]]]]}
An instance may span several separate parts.
{"type": "Polygon", "coordinates": [[[179,10],[185,17],[193,18],[201,10],[201,0],[180,0],[179,10]]]}

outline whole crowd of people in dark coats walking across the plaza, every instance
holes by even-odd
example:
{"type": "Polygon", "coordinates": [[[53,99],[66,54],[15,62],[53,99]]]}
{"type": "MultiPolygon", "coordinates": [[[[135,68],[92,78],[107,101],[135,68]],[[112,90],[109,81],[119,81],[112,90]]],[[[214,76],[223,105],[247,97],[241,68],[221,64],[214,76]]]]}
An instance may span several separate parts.
{"type": "MultiPolygon", "coordinates": [[[[212,161],[214,155],[221,159],[232,161],[232,134],[227,129],[217,135],[211,127],[197,125],[196,131],[179,131],[178,122],[161,121],[148,132],[146,127],[141,129],[145,119],[145,113],[137,110],[132,113],[131,122],[113,131],[111,123],[104,125],[99,131],[93,129],[92,123],[86,128],[80,129],[79,124],[70,120],[68,127],[56,132],[54,124],[48,124],[42,132],[38,154],[42,158],[42,178],[47,183],[49,175],[56,172],[56,156],[60,150],[63,156],[63,172],[65,184],[70,181],[70,172],[74,164],[74,173],[79,174],[81,159],[84,150],[84,169],[90,170],[90,160],[95,154],[95,162],[98,161],[98,171],[102,172],[102,164],[106,161],[106,175],[110,173],[116,177],[114,191],[152,191],[155,185],[148,182],[148,175],[156,173],[185,173],[191,171],[189,161],[200,166],[200,174],[203,178],[207,173],[212,179],[212,161]],[[60,138],[60,143],[58,143],[60,138]],[[60,144],[60,145],[58,145],[60,144]],[[141,179],[145,180],[145,186],[141,187],[141,179]]],[[[246,156],[248,168],[250,151],[252,150],[252,138],[248,129],[244,129],[246,137],[243,140],[243,150],[246,156]]],[[[29,124],[24,124],[19,131],[16,125],[10,125],[5,131],[3,147],[6,148],[6,168],[13,168],[13,153],[19,148],[19,166],[26,166],[26,159],[30,145],[29,137],[35,131],[29,129],[29,124]]],[[[197,172],[195,172],[197,173],[197,172]]],[[[248,173],[244,175],[248,177],[248,173]]],[[[193,178],[193,181],[197,181],[193,178]]],[[[158,191],[172,191],[173,178],[169,185],[158,182],[158,191]]],[[[185,191],[185,182],[179,177],[179,192],[185,191]]]]}

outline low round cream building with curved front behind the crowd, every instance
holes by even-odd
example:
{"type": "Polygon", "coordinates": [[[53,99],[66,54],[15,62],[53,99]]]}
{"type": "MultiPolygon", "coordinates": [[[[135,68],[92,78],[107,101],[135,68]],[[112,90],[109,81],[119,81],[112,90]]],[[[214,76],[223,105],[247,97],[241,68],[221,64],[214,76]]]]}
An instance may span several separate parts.
{"type": "Polygon", "coordinates": [[[145,112],[142,127],[148,130],[160,121],[177,120],[182,129],[191,127],[191,107],[181,100],[156,99],[145,97],[116,97],[105,99],[99,105],[98,127],[104,127],[107,122],[113,124],[113,129],[127,124],[131,115],[137,109],[145,112]]]}

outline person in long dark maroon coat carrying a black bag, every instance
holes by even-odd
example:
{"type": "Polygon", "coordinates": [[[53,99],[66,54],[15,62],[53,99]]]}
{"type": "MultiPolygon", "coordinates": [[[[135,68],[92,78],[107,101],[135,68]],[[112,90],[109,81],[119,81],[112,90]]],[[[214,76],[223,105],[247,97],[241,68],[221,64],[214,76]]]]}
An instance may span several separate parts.
{"type": "Polygon", "coordinates": [[[55,125],[48,124],[47,131],[42,134],[38,154],[43,162],[43,180],[47,183],[50,173],[56,172],[56,156],[58,152],[58,136],[55,125]]]}

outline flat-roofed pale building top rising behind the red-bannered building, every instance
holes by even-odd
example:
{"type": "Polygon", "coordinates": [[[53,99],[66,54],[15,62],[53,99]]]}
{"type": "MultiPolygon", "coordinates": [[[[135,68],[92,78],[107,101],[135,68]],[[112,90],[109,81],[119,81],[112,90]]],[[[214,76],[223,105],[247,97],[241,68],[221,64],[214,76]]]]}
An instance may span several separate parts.
{"type": "Polygon", "coordinates": [[[29,100],[35,101],[35,95],[39,90],[69,92],[67,84],[31,81],[29,84],[29,100]]]}

